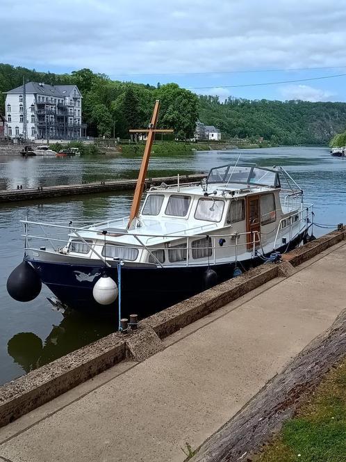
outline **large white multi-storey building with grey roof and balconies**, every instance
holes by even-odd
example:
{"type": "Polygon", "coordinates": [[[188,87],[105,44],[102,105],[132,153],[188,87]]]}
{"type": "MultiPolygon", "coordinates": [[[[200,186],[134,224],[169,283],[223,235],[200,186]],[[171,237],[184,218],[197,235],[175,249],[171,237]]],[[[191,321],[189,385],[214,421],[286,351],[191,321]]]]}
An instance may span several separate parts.
{"type": "Polygon", "coordinates": [[[29,82],[6,92],[7,136],[24,136],[24,97],[27,138],[78,139],[86,136],[82,124],[82,95],[76,85],[29,82]]]}

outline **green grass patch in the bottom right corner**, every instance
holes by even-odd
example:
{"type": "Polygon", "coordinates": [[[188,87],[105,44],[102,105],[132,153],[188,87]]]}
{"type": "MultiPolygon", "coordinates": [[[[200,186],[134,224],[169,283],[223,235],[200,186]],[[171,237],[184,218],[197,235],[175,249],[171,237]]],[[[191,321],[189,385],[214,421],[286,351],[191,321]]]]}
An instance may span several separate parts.
{"type": "Polygon", "coordinates": [[[346,461],[346,360],[323,379],[258,462],[346,461]]]}

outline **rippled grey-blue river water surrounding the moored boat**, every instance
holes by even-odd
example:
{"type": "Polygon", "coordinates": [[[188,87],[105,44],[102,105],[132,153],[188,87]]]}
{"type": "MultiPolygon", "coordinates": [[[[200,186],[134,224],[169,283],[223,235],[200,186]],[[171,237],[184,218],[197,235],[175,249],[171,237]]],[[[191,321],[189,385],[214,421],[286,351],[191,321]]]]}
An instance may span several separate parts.
{"type": "MultiPolygon", "coordinates": [[[[233,163],[240,150],[208,151],[152,156],[149,175],[165,176],[207,171],[233,163]]],[[[315,205],[315,221],[327,225],[346,222],[346,159],[331,157],[327,148],[270,148],[241,150],[240,162],[281,165],[304,189],[306,202],[315,205]]],[[[123,154],[69,159],[0,157],[0,189],[74,184],[135,178],[140,156],[123,154]]],[[[6,292],[6,279],[22,261],[24,243],[19,220],[101,221],[129,214],[132,193],[104,193],[79,198],[0,205],[0,383],[5,383],[69,351],[107,335],[115,321],[51,309],[46,287],[30,303],[14,301],[6,292]]],[[[328,232],[314,228],[315,235],[328,232]]],[[[134,310],[135,311],[135,310],[134,310]]]]}

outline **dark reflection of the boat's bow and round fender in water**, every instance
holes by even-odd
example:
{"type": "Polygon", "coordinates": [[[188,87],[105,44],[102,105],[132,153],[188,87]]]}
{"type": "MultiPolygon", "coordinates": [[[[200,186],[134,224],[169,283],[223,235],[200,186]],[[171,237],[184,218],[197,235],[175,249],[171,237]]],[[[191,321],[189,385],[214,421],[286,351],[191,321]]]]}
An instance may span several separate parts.
{"type": "Polygon", "coordinates": [[[28,373],[67,353],[88,345],[117,330],[117,319],[87,317],[68,312],[42,341],[32,332],[19,332],[8,340],[8,354],[28,373]]]}

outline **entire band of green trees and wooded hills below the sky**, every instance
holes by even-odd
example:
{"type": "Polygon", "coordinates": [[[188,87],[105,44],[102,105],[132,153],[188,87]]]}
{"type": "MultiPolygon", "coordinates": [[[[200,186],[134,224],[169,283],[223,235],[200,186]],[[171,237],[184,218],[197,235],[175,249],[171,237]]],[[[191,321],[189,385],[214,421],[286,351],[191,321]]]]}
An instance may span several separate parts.
{"type": "Polygon", "coordinates": [[[36,72],[24,67],[0,64],[0,111],[4,111],[2,92],[26,81],[76,84],[83,95],[83,122],[90,136],[128,136],[129,128],[145,127],[155,99],[160,99],[160,127],[173,128],[179,138],[190,138],[197,118],[215,125],[222,137],[258,139],[273,144],[327,144],[346,128],[346,103],[250,101],[229,97],[199,96],[176,83],[150,86],[110,80],[105,74],[88,69],[72,74],[36,72]]]}

